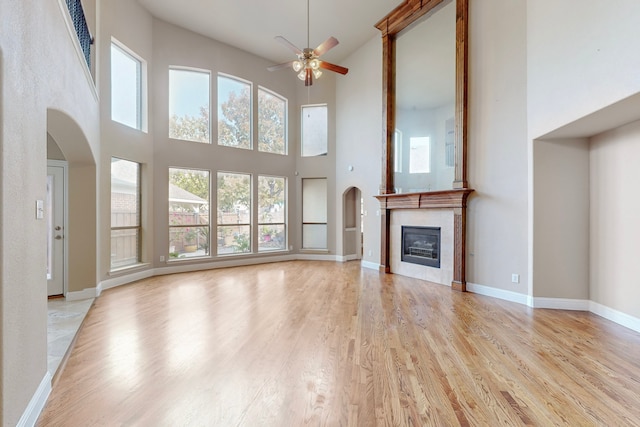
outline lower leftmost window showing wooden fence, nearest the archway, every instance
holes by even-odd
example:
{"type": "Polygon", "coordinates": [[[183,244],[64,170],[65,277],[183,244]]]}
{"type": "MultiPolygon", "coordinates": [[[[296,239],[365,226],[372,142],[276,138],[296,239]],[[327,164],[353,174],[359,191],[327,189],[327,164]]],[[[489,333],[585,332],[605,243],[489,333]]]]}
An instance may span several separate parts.
{"type": "Polygon", "coordinates": [[[140,262],[140,164],[111,159],[111,269],[140,262]]]}

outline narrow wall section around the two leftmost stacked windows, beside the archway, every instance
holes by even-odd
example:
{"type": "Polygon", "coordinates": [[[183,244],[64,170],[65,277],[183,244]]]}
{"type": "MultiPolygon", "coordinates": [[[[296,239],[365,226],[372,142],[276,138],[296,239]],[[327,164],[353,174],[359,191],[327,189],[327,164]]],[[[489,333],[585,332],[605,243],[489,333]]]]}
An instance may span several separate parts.
{"type": "Polygon", "coordinates": [[[110,0],[99,2],[100,35],[96,38],[98,48],[98,69],[100,76],[100,121],[101,145],[98,162],[98,277],[109,278],[111,269],[111,158],[119,157],[142,164],[142,226],[143,262],[151,262],[157,233],[153,229],[155,216],[152,209],[153,151],[155,146],[153,114],[156,110],[156,95],[152,86],[155,70],[153,64],[153,17],[138,2],[110,0]],[[112,37],[124,44],[140,59],[143,67],[143,105],[148,108],[143,122],[149,125],[146,131],[139,131],[111,120],[111,40],[112,37]]]}

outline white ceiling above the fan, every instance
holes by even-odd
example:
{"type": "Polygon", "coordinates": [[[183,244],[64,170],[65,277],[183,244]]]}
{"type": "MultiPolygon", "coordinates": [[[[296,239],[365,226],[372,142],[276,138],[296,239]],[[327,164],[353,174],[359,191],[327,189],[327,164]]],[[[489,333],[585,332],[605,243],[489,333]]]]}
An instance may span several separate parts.
{"type": "Polygon", "coordinates": [[[307,46],[305,0],[138,0],[156,18],[238,47],[275,63],[292,52],[274,40],[317,47],[329,36],[340,44],[323,59],[340,63],[380,32],[374,25],[402,0],[309,0],[311,46],[307,46]]]}

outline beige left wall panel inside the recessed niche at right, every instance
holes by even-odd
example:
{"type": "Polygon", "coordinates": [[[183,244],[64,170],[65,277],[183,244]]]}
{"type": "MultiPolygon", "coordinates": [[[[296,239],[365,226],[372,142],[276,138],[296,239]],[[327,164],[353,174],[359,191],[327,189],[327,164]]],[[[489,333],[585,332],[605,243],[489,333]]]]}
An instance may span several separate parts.
{"type": "Polygon", "coordinates": [[[589,298],[589,144],[535,141],[535,297],[589,298]]]}

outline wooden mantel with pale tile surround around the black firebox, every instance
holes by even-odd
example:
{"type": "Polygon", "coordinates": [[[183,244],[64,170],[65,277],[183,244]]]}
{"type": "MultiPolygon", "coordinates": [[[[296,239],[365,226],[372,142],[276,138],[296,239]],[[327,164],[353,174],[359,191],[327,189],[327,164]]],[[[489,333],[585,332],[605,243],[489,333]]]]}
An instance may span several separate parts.
{"type": "Polygon", "coordinates": [[[381,270],[466,291],[466,208],[472,191],[465,188],[376,196],[382,219],[381,270]],[[440,268],[401,261],[403,225],[441,228],[440,268]]]}

